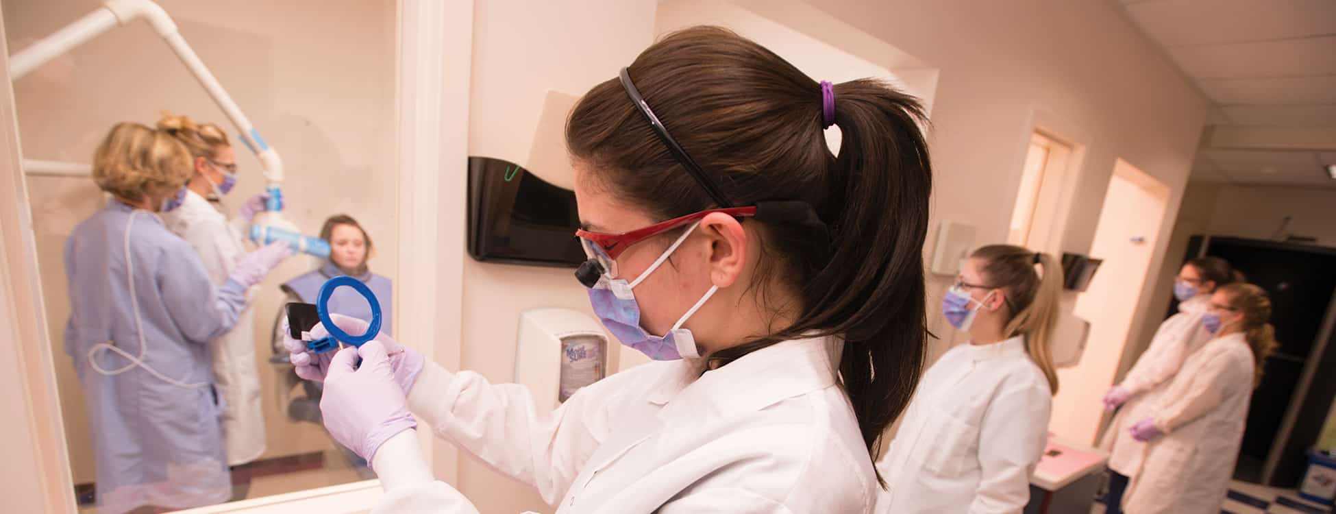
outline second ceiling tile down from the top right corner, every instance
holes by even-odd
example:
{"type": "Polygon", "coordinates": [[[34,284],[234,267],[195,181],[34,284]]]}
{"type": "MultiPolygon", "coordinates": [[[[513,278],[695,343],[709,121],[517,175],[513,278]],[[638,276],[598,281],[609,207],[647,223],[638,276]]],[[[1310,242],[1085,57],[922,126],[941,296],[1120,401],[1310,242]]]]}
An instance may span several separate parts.
{"type": "Polygon", "coordinates": [[[1336,36],[1176,47],[1169,56],[1194,79],[1336,75],[1336,36]]]}

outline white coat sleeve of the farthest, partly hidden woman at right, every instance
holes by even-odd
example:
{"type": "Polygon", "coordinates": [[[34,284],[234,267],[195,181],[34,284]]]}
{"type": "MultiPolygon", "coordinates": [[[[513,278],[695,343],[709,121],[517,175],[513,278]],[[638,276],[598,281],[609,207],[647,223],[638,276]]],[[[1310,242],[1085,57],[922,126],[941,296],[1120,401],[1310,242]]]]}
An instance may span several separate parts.
{"type": "Polygon", "coordinates": [[[1173,378],[1192,351],[1209,338],[1210,334],[1201,328],[1200,314],[1176,314],[1160,324],[1150,346],[1128,371],[1121,386],[1132,394],[1156,389],[1173,378]]]}

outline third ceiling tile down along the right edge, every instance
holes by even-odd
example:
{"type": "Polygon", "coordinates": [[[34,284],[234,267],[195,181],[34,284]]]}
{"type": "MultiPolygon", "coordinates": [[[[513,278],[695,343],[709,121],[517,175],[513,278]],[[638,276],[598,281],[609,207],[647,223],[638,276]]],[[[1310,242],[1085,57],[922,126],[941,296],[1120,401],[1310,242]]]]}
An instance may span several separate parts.
{"type": "Polygon", "coordinates": [[[1212,79],[1197,85],[1218,104],[1336,104],[1336,75],[1281,79],[1212,79]]]}

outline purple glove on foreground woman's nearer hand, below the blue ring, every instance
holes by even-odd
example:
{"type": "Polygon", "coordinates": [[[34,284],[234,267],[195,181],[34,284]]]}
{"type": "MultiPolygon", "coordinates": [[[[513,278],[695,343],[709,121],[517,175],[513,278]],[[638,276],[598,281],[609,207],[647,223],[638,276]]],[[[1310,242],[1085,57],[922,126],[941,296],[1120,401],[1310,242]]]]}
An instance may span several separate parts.
{"type": "Polygon", "coordinates": [[[407,397],[394,382],[385,344],[378,340],[359,348],[347,347],[334,355],[325,376],[321,414],[334,441],[369,463],[375,461],[375,450],[386,439],[417,427],[417,421],[409,414],[407,397]],[[358,356],[362,364],[354,370],[358,356]]]}

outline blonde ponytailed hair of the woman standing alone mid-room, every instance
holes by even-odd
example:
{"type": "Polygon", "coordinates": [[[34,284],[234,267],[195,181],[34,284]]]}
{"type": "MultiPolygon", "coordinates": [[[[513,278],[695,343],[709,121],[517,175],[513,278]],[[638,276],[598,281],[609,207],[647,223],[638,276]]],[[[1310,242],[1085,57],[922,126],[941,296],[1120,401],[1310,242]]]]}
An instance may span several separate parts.
{"type": "Polygon", "coordinates": [[[1025,335],[1025,350],[1049,380],[1049,391],[1058,394],[1058,371],[1053,364],[1053,332],[1057,331],[1062,295],[1062,266],[1049,254],[1010,246],[991,244],[975,250],[982,259],[983,275],[993,287],[1005,292],[1011,312],[1003,334],[1025,335]],[[1035,264],[1039,272],[1035,272],[1035,264]]]}

